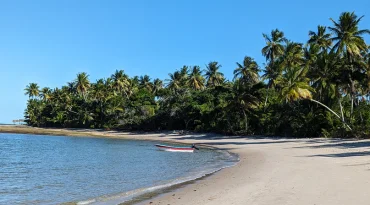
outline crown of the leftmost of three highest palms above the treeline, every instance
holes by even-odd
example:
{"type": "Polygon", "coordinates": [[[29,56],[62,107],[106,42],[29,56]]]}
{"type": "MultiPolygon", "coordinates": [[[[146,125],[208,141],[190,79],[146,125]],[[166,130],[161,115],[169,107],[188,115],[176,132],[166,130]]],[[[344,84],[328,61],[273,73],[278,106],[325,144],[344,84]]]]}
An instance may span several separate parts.
{"type": "Polygon", "coordinates": [[[275,62],[284,52],[283,43],[286,41],[284,32],[278,29],[272,30],[271,35],[262,34],[266,41],[266,46],[262,48],[262,55],[266,57],[266,61],[271,64],[275,62]]]}

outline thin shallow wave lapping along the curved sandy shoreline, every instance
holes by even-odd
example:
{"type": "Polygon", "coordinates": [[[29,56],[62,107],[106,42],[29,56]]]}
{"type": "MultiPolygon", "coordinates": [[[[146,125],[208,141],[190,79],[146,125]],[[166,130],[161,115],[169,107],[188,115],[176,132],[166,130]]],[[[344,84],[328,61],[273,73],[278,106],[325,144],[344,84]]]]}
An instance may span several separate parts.
{"type": "Polygon", "coordinates": [[[163,183],[160,185],[154,185],[151,187],[145,187],[140,189],[131,190],[128,192],[123,192],[115,195],[109,195],[109,196],[100,196],[94,199],[89,199],[85,201],[79,201],[77,202],[77,205],[116,205],[124,202],[131,201],[137,197],[140,197],[142,195],[160,191],[166,188],[170,188],[175,185],[183,184],[186,182],[190,182],[193,180],[200,179],[202,177],[211,175],[215,172],[218,172],[224,168],[228,168],[231,166],[234,166],[239,161],[239,156],[233,153],[229,153],[226,151],[219,151],[223,153],[223,162],[222,164],[214,164],[213,166],[209,166],[206,169],[203,170],[194,170],[190,173],[190,175],[185,177],[180,177],[171,181],[168,181],[167,183],[163,183]]]}

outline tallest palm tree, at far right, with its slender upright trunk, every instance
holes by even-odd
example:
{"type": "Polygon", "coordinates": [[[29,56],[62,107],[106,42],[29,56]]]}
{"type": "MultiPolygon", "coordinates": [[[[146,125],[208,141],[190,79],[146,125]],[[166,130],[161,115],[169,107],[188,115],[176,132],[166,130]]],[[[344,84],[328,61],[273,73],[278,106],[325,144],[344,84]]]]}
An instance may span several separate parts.
{"type": "Polygon", "coordinates": [[[355,70],[358,67],[353,65],[356,58],[361,58],[361,52],[367,50],[367,45],[364,38],[364,34],[370,34],[370,30],[364,29],[359,30],[358,24],[363,16],[360,18],[352,12],[344,12],[340,15],[339,21],[336,22],[332,18],[330,19],[334,27],[329,27],[333,32],[333,38],[331,39],[335,42],[332,52],[335,52],[338,56],[346,59],[348,66],[344,66],[343,75],[350,84],[350,95],[351,95],[351,115],[353,113],[353,103],[356,95],[356,79],[354,79],[355,70]]]}

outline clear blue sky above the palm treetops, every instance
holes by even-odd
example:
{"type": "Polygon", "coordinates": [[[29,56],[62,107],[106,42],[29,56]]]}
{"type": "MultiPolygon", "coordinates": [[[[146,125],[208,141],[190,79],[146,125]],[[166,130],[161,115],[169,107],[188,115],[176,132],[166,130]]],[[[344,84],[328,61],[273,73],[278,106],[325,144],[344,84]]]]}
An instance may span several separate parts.
{"type": "MultiPolygon", "coordinates": [[[[166,79],[183,65],[222,64],[231,79],[245,55],[262,67],[262,33],[299,42],[343,11],[365,15],[369,0],[1,0],[0,123],[22,119],[30,82],[60,87],[87,72],[116,69],[166,79]]],[[[366,38],[369,43],[369,37],[366,38]]]]}

